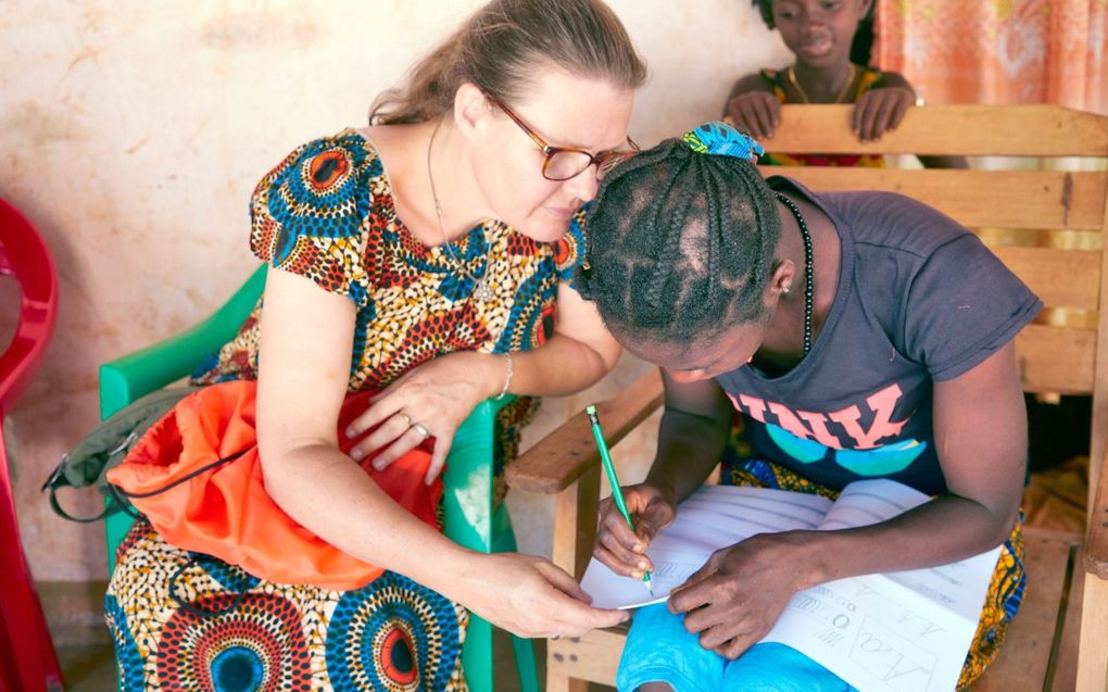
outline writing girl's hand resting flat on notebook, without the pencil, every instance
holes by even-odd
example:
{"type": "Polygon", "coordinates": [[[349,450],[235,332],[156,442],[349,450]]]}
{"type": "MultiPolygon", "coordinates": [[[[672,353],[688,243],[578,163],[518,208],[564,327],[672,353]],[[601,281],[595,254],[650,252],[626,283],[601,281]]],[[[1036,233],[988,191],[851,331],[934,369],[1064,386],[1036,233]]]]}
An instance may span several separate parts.
{"type": "Polygon", "coordinates": [[[803,534],[759,534],[712,554],[669,596],[700,645],[733,661],[766,636],[800,590],[803,534]]]}

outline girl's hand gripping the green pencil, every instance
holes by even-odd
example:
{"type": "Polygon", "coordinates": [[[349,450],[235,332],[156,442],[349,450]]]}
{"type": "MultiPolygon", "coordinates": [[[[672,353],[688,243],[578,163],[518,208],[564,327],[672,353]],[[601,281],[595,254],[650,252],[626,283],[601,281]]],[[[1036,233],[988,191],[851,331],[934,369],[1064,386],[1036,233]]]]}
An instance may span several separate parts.
{"type": "Polygon", "coordinates": [[[671,489],[645,483],[627,486],[623,494],[635,531],[627,526],[612,498],[604,498],[593,557],[617,575],[642,579],[645,571],[654,569],[646,548],[658,531],[673,524],[677,500],[671,489]]]}

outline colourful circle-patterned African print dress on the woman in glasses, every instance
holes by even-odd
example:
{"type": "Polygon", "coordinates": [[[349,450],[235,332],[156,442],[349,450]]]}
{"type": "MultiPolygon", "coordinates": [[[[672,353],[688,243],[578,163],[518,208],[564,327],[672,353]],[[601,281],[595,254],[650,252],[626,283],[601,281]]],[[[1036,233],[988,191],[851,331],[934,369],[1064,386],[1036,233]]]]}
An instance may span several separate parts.
{"type": "MultiPolygon", "coordinates": [[[[428,248],[397,218],[381,159],[356,131],[293,152],[258,184],[250,213],[255,255],[355,302],[350,392],[452,351],[542,344],[583,247],[578,216],[556,244],[490,220],[428,248]],[[471,300],[481,278],[492,300],[471,300]]],[[[256,378],[259,310],[197,383],[256,378]]],[[[532,409],[521,399],[502,412],[497,477],[532,409]]],[[[465,689],[466,610],[390,571],[346,592],[271,583],[174,548],[138,520],[119,548],[105,613],[129,691],[465,689]]]]}

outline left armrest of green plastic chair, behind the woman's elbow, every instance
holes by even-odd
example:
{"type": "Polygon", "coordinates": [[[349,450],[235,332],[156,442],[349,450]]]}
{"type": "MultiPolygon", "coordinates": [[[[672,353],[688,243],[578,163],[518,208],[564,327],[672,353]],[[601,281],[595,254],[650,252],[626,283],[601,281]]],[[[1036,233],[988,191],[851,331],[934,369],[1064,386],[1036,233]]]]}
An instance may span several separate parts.
{"type": "Polygon", "coordinates": [[[189,374],[215,349],[230,341],[250,314],[266,285],[263,265],[212,317],[175,334],[100,366],[100,417],[189,374]]]}

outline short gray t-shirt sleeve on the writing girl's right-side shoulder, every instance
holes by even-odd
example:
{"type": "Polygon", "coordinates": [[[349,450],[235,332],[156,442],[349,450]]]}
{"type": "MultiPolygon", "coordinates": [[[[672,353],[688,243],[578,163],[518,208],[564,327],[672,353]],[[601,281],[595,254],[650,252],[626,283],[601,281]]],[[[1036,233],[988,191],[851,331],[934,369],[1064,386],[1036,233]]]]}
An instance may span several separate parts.
{"type": "Polygon", "coordinates": [[[964,374],[1015,338],[1043,302],[981,240],[937,248],[913,278],[905,344],[936,381],[964,374]]]}

